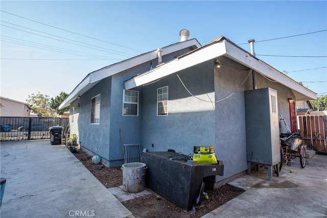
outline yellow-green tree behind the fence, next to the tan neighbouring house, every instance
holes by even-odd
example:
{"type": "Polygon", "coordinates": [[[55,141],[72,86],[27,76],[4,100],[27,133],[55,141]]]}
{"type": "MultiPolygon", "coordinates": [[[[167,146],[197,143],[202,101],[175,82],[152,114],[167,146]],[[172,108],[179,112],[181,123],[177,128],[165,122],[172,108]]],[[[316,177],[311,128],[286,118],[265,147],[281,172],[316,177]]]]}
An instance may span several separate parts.
{"type": "Polygon", "coordinates": [[[26,102],[32,108],[32,112],[39,117],[54,117],[56,111],[50,107],[50,96],[43,95],[40,92],[32,93],[26,102]]]}

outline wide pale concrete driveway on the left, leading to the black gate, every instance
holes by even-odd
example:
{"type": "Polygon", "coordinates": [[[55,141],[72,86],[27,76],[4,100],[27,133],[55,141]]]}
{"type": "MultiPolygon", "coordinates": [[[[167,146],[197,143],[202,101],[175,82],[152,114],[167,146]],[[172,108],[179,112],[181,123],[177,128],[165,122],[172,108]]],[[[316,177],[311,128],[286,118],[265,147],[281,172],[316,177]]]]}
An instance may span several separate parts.
{"type": "Polygon", "coordinates": [[[65,147],[50,140],[1,142],[1,216],[127,217],[126,209],[65,147]]]}

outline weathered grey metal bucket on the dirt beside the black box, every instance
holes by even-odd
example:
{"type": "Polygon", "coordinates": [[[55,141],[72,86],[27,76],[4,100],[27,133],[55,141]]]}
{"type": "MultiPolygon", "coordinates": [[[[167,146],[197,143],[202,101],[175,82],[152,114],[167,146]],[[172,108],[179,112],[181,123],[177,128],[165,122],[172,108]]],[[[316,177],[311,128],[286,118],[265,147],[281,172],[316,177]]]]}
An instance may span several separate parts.
{"type": "Polygon", "coordinates": [[[145,189],[145,163],[133,162],[122,165],[123,190],[125,192],[136,193],[145,189]]]}

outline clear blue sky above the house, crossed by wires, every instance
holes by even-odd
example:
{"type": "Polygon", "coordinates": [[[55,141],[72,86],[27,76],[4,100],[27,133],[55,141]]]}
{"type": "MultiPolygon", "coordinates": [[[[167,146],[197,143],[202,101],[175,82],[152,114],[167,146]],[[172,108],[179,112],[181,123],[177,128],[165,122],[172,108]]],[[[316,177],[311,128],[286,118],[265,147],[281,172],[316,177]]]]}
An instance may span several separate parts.
{"type": "Polygon", "coordinates": [[[91,71],[178,42],[181,29],[202,45],[225,36],[247,51],[254,38],[257,58],[327,92],[327,1],[1,1],[1,10],[5,98],[71,93],[91,71]]]}

